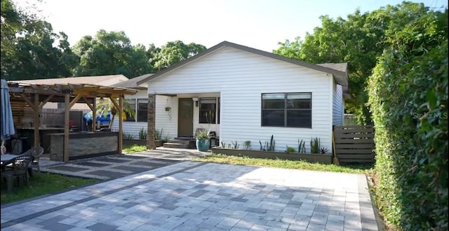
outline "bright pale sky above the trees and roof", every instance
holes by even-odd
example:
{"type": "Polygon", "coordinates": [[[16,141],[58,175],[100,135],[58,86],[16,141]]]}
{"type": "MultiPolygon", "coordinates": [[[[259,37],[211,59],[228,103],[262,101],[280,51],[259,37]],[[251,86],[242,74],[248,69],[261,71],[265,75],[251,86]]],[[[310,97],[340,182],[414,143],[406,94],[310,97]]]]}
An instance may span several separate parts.
{"type": "MultiPolygon", "coordinates": [[[[448,7],[446,0],[413,2],[448,7]]],[[[346,18],[357,8],[364,13],[398,3],[401,0],[42,0],[37,8],[53,31],[67,34],[70,45],[105,29],[124,31],[133,45],[161,47],[180,40],[210,48],[229,41],[272,52],[279,42],[312,34],[321,26],[321,15],[346,18]]]]}

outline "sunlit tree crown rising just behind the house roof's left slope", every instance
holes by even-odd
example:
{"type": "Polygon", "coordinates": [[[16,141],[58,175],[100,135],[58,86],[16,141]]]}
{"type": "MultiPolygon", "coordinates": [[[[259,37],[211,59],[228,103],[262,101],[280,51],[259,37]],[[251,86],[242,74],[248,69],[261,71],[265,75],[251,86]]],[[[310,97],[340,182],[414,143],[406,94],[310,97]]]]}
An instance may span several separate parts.
{"type": "Polygon", "coordinates": [[[159,71],[192,57],[203,50],[206,50],[206,47],[201,44],[189,43],[186,45],[179,40],[170,41],[163,45],[160,50],[155,50],[156,52],[154,52],[154,58],[152,59],[154,69],[159,71]]]}

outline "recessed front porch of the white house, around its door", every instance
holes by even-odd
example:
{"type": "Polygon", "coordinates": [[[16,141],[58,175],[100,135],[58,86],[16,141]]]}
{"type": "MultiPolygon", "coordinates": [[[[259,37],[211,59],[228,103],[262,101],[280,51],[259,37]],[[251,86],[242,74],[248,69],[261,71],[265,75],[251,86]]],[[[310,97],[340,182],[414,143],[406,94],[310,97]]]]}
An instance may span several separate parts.
{"type": "MultiPolygon", "coordinates": [[[[149,94],[148,99],[147,131],[168,136],[165,147],[174,148],[170,144],[180,143],[176,140],[192,142],[201,129],[209,131],[211,137],[220,137],[220,92],[156,93],[149,94]]],[[[147,148],[155,147],[152,137],[147,137],[147,148]]]]}

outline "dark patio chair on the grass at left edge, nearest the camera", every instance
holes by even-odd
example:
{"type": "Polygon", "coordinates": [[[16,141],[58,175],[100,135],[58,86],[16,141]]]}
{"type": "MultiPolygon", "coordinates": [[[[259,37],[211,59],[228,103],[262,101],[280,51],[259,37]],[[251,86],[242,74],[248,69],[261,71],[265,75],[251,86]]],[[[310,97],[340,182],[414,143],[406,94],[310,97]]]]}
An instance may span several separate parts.
{"type": "Polygon", "coordinates": [[[22,182],[26,182],[27,186],[29,186],[28,167],[33,159],[32,155],[20,155],[4,163],[4,166],[11,166],[1,172],[1,177],[6,179],[8,185],[8,193],[11,193],[11,190],[13,190],[15,179],[18,180],[19,187],[22,182]]]}

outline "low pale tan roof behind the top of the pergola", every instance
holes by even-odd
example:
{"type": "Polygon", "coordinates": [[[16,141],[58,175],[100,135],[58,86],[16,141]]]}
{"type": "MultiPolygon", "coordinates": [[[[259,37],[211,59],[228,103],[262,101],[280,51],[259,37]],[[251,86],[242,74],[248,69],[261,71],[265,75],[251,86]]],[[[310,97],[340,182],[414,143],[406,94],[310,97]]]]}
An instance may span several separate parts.
{"type": "Polygon", "coordinates": [[[79,76],[67,78],[42,78],[30,80],[10,80],[12,83],[27,83],[38,85],[53,85],[53,84],[95,84],[95,85],[112,85],[121,81],[126,81],[128,78],[123,75],[109,75],[109,76],[79,76]]]}

